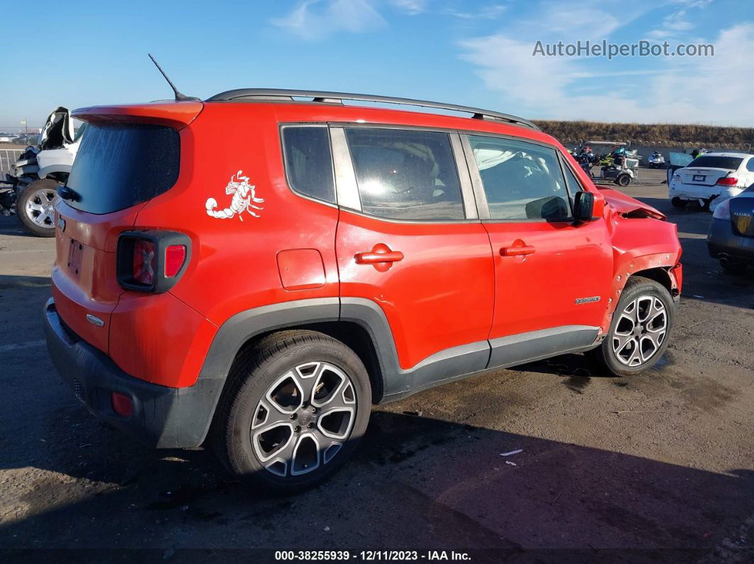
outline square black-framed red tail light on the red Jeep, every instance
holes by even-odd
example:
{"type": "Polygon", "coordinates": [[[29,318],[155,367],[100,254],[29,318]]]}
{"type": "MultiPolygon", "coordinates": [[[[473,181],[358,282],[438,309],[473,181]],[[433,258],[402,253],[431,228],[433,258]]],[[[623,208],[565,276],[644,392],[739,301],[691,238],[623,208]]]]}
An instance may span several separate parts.
{"type": "Polygon", "coordinates": [[[126,231],[118,237],[118,283],[127,290],[161,294],[189,264],[191,239],[174,231],[126,231]]]}

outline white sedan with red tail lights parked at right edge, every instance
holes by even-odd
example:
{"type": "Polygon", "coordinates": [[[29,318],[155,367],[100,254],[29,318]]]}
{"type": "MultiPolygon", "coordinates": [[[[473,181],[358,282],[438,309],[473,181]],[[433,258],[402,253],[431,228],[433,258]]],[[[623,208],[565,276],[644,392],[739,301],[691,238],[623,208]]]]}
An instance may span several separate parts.
{"type": "Polygon", "coordinates": [[[676,208],[688,202],[714,209],[754,184],[754,154],[705,153],[677,169],[668,194],[676,208]]]}

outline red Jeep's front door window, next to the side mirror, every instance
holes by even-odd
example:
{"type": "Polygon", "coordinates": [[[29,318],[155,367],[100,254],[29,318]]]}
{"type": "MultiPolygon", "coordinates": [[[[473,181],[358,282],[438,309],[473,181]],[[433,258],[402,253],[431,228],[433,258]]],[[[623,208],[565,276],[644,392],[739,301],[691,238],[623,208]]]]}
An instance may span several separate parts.
{"type": "Polygon", "coordinates": [[[499,137],[469,136],[469,142],[491,219],[570,218],[569,193],[555,149],[499,137]]]}

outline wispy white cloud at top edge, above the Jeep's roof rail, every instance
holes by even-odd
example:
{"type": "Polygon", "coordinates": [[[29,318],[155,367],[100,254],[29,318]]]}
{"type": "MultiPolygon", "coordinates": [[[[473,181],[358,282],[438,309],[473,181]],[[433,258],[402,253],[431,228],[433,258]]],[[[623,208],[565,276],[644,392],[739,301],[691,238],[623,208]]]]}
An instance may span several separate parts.
{"type": "Polygon", "coordinates": [[[271,23],[307,40],[335,32],[365,32],[386,25],[385,19],[366,0],[305,0],[290,14],[271,23]]]}

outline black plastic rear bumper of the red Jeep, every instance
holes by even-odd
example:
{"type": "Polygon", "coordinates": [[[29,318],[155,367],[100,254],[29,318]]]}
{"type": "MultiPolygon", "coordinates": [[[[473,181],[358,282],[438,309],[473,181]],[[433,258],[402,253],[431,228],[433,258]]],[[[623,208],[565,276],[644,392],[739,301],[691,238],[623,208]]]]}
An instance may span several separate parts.
{"type": "Polygon", "coordinates": [[[199,379],[188,388],[169,388],[131,377],[63,325],[52,298],[44,306],[44,333],[61,379],[99,419],[149,447],[191,448],[204,441],[224,379],[199,379]],[[112,392],[131,398],[130,416],[115,413],[112,392]]]}

